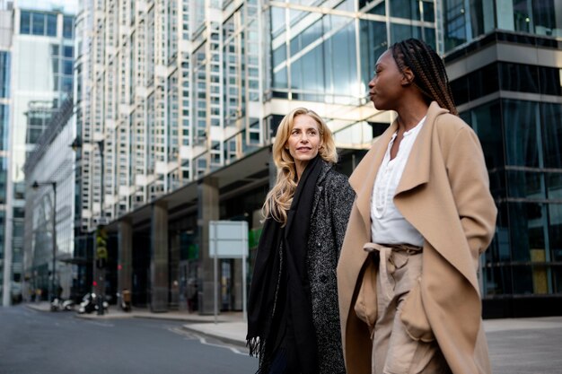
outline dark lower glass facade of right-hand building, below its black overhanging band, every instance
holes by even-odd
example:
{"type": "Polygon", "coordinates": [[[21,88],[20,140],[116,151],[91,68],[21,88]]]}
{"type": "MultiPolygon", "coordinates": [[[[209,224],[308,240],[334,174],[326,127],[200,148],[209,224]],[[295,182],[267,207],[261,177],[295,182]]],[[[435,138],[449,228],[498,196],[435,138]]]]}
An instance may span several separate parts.
{"type": "Polygon", "coordinates": [[[499,211],[485,297],[562,292],[561,116],[561,104],[508,99],[462,113],[482,142],[499,211]]]}

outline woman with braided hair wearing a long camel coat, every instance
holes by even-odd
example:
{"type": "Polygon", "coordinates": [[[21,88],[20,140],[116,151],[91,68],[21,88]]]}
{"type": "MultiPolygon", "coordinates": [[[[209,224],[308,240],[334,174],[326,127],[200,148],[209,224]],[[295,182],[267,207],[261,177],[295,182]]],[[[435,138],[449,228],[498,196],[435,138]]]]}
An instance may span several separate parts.
{"type": "Polygon", "coordinates": [[[397,117],[349,178],[338,262],[347,373],[489,373],[477,271],[496,205],[479,139],[425,42],[400,41],[375,67],[374,107],[397,117]]]}

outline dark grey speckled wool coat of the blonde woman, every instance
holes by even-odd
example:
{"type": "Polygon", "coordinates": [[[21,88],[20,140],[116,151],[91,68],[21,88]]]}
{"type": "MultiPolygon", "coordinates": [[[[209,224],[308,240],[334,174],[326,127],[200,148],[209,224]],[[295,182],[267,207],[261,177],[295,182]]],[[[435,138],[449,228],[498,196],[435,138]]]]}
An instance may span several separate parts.
{"type": "Polygon", "coordinates": [[[322,161],[312,201],[307,269],[321,374],[345,374],[336,267],[355,192],[347,177],[322,161]]]}

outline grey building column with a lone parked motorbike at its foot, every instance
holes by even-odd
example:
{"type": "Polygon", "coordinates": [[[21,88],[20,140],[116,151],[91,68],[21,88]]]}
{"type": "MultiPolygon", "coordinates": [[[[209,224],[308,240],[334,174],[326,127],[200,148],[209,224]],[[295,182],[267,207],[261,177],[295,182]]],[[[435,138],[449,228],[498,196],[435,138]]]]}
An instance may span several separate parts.
{"type": "MultiPolygon", "coordinates": [[[[123,290],[133,291],[133,225],[130,220],[119,221],[118,233],[118,279],[119,294],[123,290]]],[[[119,300],[120,302],[120,300],[119,300]]]]}

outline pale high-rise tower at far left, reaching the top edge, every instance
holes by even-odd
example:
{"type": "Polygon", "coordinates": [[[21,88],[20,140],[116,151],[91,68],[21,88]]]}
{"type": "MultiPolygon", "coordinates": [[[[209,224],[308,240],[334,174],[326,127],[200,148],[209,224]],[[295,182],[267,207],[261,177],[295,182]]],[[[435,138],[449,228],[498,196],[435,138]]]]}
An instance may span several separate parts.
{"type": "MultiPolygon", "coordinates": [[[[47,126],[52,109],[57,109],[73,93],[75,20],[73,14],[64,13],[63,7],[51,6],[49,2],[7,4],[11,4],[8,24],[12,35],[9,44],[10,132],[3,225],[4,305],[22,295],[23,165],[34,149],[34,142],[47,126]]],[[[3,27],[5,24],[2,22],[3,27]]]]}

